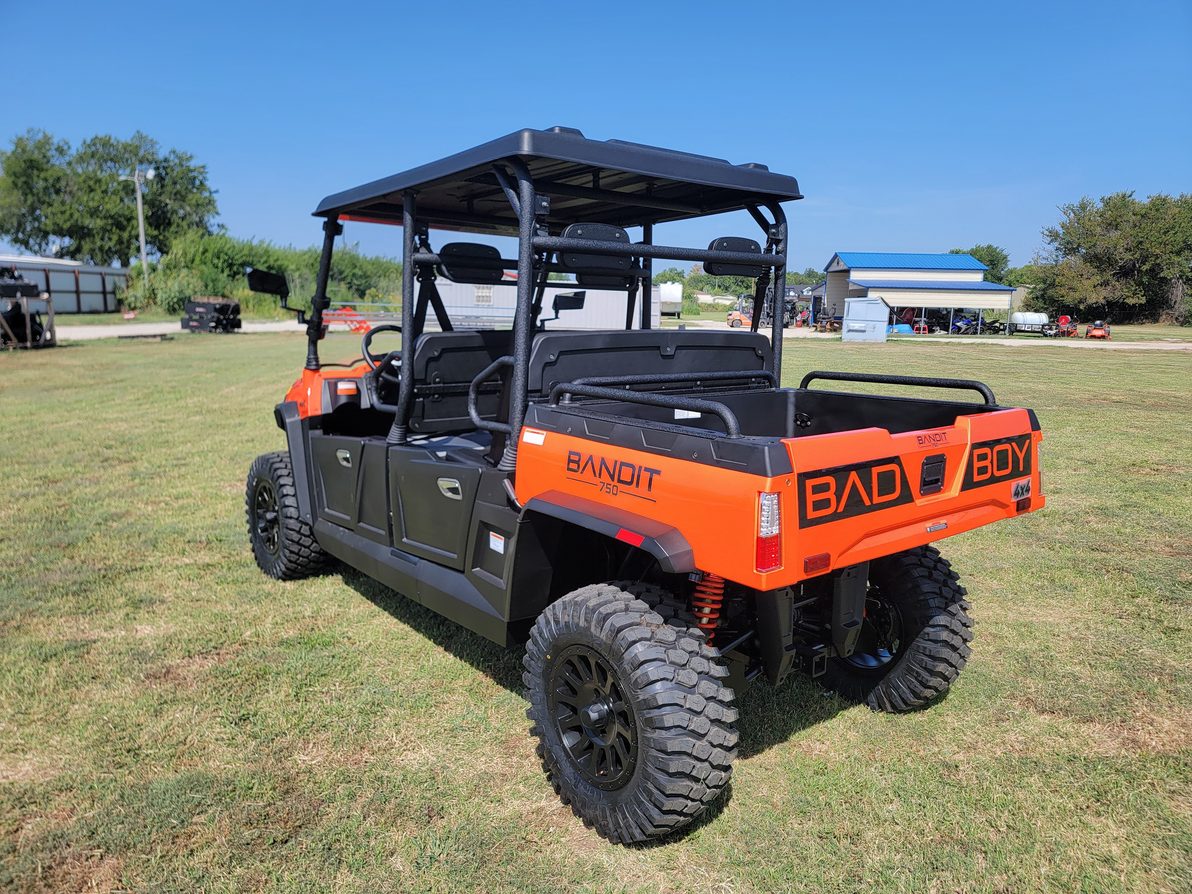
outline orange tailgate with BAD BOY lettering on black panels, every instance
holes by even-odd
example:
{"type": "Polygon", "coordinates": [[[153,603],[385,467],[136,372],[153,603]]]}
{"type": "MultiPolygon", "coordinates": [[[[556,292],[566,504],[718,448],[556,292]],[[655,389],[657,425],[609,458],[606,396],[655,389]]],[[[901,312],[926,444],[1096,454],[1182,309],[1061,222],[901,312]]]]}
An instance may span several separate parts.
{"type": "Polygon", "coordinates": [[[1023,409],[896,435],[788,439],[797,476],[797,505],[783,513],[795,532],[790,558],[803,576],[820,573],[1041,509],[1041,440],[1023,409]]]}

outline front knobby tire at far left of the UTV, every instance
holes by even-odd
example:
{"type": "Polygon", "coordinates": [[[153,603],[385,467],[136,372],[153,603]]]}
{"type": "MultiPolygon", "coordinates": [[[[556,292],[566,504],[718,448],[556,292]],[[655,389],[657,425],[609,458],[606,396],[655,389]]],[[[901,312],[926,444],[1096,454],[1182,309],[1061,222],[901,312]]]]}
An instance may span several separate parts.
{"type": "Polygon", "coordinates": [[[287,451],[266,453],[253,462],[244,511],[253,555],[266,575],[298,581],[327,569],[330,557],[298,513],[298,489],[287,451]]]}

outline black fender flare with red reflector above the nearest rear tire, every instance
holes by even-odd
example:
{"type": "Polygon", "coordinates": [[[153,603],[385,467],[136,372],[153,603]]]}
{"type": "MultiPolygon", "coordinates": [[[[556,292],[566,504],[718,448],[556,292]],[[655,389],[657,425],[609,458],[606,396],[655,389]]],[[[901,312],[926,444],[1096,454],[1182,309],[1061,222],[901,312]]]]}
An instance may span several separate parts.
{"type": "Polygon", "coordinates": [[[557,490],[548,490],[528,499],[520,521],[524,521],[532,513],[570,522],[645,550],[658,559],[659,567],[668,573],[687,575],[696,570],[691,545],[678,528],[665,522],[557,490]]]}

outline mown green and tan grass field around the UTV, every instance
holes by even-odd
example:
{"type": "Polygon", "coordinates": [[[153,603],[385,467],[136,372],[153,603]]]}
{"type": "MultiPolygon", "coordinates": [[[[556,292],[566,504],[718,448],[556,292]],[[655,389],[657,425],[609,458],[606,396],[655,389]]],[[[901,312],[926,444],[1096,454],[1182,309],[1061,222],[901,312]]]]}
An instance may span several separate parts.
{"type": "Polygon", "coordinates": [[[788,342],[788,381],[962,375],[1033,406],[1048,508],[940,544],[979,619],[943,701],[760,684],[730,795],[619,848],[544,781],[519,653],[348,569],[257,572],[243,478],[303,354],[0,355],[0,888],[1192,889],[1192,356],[788,342]]]}

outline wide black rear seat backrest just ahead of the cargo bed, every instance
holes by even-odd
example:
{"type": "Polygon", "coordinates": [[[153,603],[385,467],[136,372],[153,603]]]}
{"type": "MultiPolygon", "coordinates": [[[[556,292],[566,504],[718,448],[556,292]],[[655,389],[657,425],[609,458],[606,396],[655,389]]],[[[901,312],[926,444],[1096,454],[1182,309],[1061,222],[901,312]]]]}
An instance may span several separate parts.
{"type": "Polygon", "coordinates": [[[765,370],[770,340],[760,333],[707,329],[540,333],[529,358],[530,399],[561,381],[590,375],[642,375],[765,370]]]}

